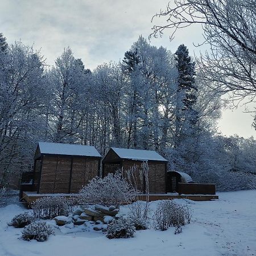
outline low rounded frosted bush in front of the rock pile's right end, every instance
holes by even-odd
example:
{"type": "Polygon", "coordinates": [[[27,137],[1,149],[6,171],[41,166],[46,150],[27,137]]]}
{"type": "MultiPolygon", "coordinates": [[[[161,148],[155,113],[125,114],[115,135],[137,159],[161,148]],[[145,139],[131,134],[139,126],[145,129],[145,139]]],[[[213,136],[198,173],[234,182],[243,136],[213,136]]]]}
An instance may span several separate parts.
{"type": "Polygon", "coordinates": [[[112,238],[129,238],[133,237],[135,227],[127,218],[120,217],[118,220],[113,220],[109,225],[106,237],[112,238]]]}

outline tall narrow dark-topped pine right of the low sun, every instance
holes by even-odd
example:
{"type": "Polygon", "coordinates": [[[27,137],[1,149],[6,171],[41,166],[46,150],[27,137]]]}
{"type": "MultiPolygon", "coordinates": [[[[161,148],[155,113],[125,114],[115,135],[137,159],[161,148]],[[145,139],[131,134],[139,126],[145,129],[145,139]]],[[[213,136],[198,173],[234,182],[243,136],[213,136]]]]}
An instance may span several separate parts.
{"type": "Polygon", "coordinates": [[[176,121],[174,138],[174,166],[177,171],[192,174],[195,165],[198,141],[198,113],[194,109],[197,101],[195,84],[195,62],[191,60],[187,47],[181,44],[175,52],[178,72],[176,89],[176,121]]]}

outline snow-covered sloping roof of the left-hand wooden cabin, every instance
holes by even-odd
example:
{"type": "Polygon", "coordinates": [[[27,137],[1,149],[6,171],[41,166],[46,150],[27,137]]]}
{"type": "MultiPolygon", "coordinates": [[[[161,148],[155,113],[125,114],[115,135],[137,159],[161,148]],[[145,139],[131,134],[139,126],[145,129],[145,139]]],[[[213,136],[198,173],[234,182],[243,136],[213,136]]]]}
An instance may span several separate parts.
{"type": "Polygon", "coordinates": [[[56,155],[80,155],[80,156],[98,156],[100,153],[93,146],[39,142],[41,154],[56,154],[56,155]]]}

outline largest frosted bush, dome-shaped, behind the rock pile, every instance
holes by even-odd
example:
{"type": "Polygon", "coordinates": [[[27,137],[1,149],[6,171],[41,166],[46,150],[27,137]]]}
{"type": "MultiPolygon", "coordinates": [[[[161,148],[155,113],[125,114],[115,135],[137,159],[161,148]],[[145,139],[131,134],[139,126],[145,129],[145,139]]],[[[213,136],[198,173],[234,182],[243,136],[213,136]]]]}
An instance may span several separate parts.
{"type": "Polygon", "coordinates": [[[123,179],[121,171],[104,178],[95,177],[80,191],[81,201],[118,207],[121,203],[134,200],[134,190],[123,179]]]}

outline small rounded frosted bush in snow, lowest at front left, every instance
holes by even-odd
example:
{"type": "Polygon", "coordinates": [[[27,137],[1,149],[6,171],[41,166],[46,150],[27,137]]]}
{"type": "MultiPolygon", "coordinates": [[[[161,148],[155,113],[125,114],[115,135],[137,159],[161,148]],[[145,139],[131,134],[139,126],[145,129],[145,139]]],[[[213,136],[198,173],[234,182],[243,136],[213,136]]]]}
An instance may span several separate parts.
{"type": "Polygon", "coordinates": [[[46,222],[32,222],[24,228],[21,238],[27,241],[34,239],[43,242],[48,239],[50,234],[55,234],[55,232],[46,222]]]}

